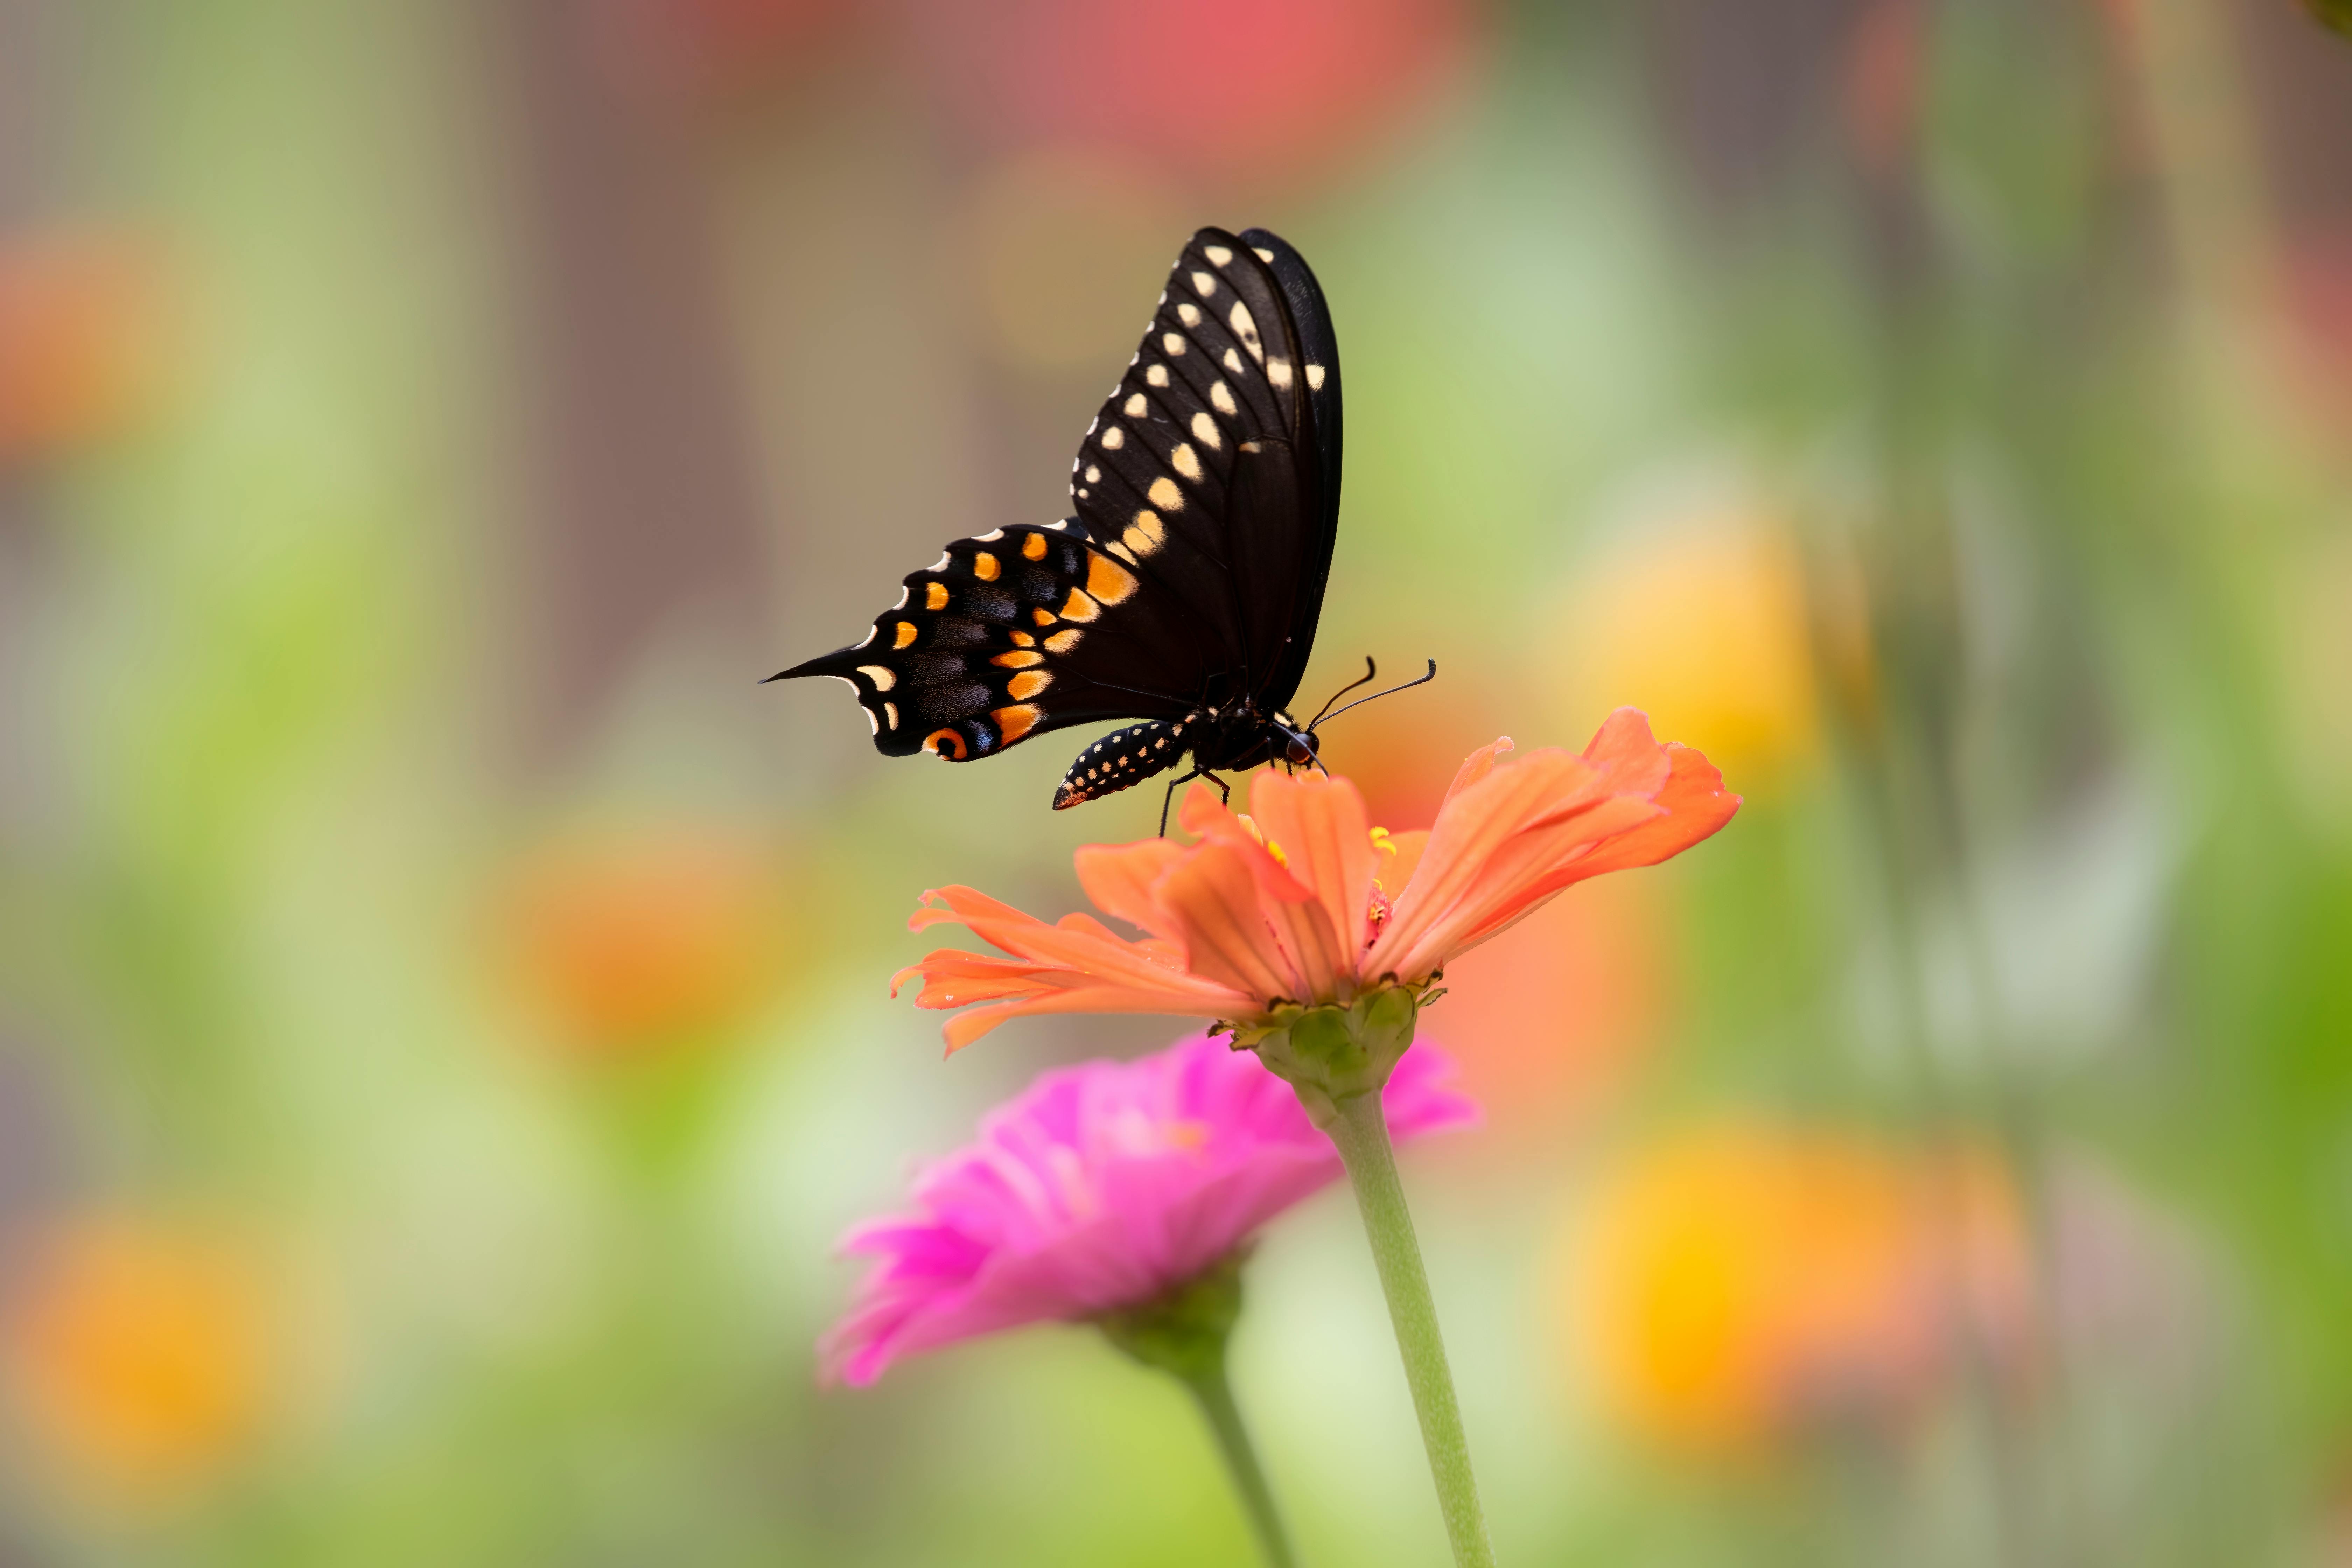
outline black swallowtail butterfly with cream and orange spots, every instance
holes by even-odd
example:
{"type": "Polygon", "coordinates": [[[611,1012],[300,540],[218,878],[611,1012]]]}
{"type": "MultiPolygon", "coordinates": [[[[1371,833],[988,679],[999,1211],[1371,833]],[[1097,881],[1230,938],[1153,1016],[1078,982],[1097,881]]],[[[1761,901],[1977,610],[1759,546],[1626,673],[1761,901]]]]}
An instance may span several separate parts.
{"type": "Polygon", "coordinates": [[[1310,766],[1322,715],[1298,724],[1287,703],[1331,574],[1338,470],[1338,339],[1315,273],[1263,228],[1204,228],[1087,425],[1077,515],[950,543],[863,642],[769,679],[849,682],[889,757],[974,762],[1143,719],[1080,752],[1056,811],[1185,757],[1171,797],[1197,776],[1225,790],[1216,769],[1310,766]]]}

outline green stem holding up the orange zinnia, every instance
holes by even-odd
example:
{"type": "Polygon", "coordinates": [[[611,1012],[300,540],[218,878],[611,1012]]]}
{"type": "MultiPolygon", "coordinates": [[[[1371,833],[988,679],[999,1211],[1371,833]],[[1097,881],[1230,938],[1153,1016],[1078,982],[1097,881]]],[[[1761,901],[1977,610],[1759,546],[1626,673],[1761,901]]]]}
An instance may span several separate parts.
{"type": "Polygon", "coordinates": [[[1336,1100],[1334,1110],[1336,1114],[1324,1119],[1324,1131],[1338,1145],[1357,1208],[1364,1211],[1364,1234],[1381,1269],[1388,1316],[1397,1326],[1397,1354],[1404,1356],[1404,1382],[1414,1389],[1421,1443],[1430,1450],[1430,1479],[1437,1483],[1437,1507],[1446,1516],[1454,1561],[1458,1568],[1494,1568],[1486,1514],[1477,1505],[1477,1479],[1470,1474],[1470,1441],[1463,1436],[1463,1413],[1454,1399],[1454,1373],[1446,1371],[1446,1347],[1437,1335],[1437,1302],[1430,1298],[1430,1274],[1421,1267],[1414,1215],[1404,1208],[1404,1182],[1397,1180],[1397,1154],[1388,1143],[1381,1095],[1378,1091],[1348,1095],[1336,1100]]]}

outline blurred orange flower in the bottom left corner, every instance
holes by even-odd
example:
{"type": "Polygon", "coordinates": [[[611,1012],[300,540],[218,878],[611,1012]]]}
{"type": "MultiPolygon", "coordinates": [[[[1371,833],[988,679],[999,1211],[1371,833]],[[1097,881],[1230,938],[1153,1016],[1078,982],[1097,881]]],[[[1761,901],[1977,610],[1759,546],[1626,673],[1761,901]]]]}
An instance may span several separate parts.
{"type": "Polygon", "coordinates": [[[221,1237],[96,1215],[45,1237],[5,1321],[9,1392],[42,1448],[129,1493],[238,1458],[275,1396],[268,1293],[221,1237]]]}

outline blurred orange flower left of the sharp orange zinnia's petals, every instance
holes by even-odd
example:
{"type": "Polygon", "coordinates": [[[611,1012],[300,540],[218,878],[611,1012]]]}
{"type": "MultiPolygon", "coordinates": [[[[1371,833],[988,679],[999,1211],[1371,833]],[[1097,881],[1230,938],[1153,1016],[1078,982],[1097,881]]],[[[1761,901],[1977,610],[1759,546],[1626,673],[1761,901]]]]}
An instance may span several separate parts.
{"type": "Polygon", "coordinates": [[[743,1025],[779,957],[769,858],[701,830],[557,842],[524,865],[503,922],[524,999],[588,1058],[743,1025]]]}

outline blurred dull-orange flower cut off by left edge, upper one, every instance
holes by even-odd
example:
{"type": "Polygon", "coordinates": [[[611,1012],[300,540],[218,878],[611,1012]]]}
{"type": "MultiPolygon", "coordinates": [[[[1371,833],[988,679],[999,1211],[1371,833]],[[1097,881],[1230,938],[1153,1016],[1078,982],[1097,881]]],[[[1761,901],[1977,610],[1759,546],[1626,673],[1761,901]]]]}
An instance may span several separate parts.
{"type": "Polygon", "coordinates": [[[162,369],[162,280],[127,235],[0,240],[0,468],[111,435],[162,369]]]}

